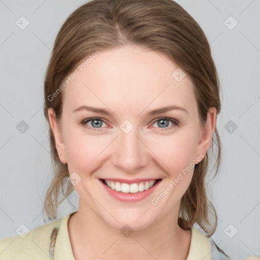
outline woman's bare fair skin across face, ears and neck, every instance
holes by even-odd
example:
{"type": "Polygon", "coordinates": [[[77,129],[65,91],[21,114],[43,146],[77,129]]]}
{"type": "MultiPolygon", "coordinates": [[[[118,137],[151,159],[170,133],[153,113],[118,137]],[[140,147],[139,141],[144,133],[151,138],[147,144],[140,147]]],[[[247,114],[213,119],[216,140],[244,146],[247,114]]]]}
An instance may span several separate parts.
{"type": "Polygon", "coordinates": [[[68,164],[70,174],[76,172],[81,177],[74,186],[80,197],[79,211],[68,223],[77,260],[186,259],[191,231],[182,230],[177,220],[193,168],[157,205],[151,200],[190,166],[192,159],[206,154],[216,109],[210,108],[207,123],[201,127],[191,80],[186,74],[176,81],[172,76],[176,69],[178,65],[166,55],[143,47],[101,50],[63,90],[61,128],[49,109],[60,160],[68,164]],[[107,109],[111,115],[73,112],[83,105],[107,109]],[[172,105],[188,113],[172,110],[148,115],[150,110],[172,105]],[[92,117],[103,120],[98,128],[91,126],[91,121],[81,124],[92,117]],[[158,121],[164,117],[179,124],[166,121],[169,126],[164,127],[158,121]],[[120,128],[125,120],[134,126],[128,134],[120,128]],[[99,178],[162,180],[148,198],[124,203],[109,196],[99,178]],[[120,233],[125,224],[134,231],[127,238],[120,233]]]}

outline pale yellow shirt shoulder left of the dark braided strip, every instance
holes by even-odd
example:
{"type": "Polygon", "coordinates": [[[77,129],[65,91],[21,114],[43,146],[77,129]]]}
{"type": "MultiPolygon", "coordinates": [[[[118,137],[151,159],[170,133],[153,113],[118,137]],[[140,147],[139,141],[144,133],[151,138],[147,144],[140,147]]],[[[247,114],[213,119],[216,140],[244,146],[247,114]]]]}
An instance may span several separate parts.
{"type": "Polygon", "coordinates": [[[0,240],[0,260],[49,259],[51,233],[60,223],[61,219],[57,219],[30,232],[0,240]]]}

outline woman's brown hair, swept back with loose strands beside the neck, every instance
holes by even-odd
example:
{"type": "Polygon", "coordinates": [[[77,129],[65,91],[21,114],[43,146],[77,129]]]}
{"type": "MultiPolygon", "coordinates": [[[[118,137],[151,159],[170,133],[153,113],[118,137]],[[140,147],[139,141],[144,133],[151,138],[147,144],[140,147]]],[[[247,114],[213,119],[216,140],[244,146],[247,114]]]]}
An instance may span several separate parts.
{"type": "MultiPolygon", "coordinates": [[[[210,45],[199,24],[179,4],[172,0],[92,0],[77,8],[58,32],[44,82],[46,120],[49,122],[48,109],[53,108],[60,122],[63,92],[55,98],[53,93],[84,57],[96,50],[125,44],[164,53],[189,75],[201,124],[206,122],[210,107],[216,108],[217,115],[220,113],[219,79],[210,45]]],[[[49,138],[54,176],[46,192],[44,210],[48,218],[53,219],[59,204],[68,199],[74,187],[68,181],[68,165],[59,159],[50,124],[49,138]]],[[[205,180],[211,158],[208,153],[213,155],[213,144],[218,148],[214,177],[220,166],[221,143],[216,127],[212,141],[204,159],[194,167],[191,183],[181,199],[178,219],[184,230],[197,222],[207,237],[212,236],[217,225],[217,214],[207,198],[205,180]],[[210,214],[214,218],[213,225],[210,214]]]]}

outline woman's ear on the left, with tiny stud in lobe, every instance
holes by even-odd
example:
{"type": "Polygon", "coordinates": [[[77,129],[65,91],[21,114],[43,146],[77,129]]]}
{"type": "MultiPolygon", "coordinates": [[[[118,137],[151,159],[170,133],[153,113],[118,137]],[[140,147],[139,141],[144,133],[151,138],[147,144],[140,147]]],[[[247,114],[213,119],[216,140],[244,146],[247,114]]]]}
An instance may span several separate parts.
{"type": "Polygon", "coordinates": [[[53,108],[48,109],[48,115],[49,115],[50,126],[55,137],[55,146],[58,151],[59,159],[62,161],[63,164],[67,164],[65,146],[62,139],[61,129],[57,124],[56,114],[53,108]],[[61,155],[65,155],[65,156],[61,156],[61,155]]]}

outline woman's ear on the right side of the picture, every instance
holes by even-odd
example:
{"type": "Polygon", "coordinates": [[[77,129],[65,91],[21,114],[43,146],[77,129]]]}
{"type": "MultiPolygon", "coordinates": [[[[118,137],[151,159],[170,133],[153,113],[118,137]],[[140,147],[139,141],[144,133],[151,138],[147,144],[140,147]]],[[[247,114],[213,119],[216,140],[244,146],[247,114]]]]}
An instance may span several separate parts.
{"type": "Polygon", "coordinates": [[[203,158],[206,155],[207,150],[210,147],[214,129],[216,126],[216,108],[210,107],[207,115],[207,122],[201,128],[201,138],[197,147],[197,156],[198,154],[203,154],[203,158]]]}

